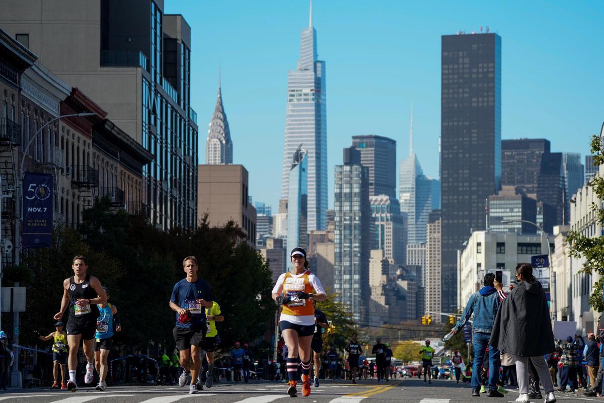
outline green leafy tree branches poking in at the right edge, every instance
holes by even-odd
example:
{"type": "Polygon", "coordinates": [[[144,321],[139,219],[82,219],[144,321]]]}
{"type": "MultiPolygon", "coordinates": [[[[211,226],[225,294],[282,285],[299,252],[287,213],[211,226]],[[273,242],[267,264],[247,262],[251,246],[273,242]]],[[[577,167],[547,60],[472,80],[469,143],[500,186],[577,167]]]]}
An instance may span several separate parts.
{"type": "MultiPolygon", "coordinates": [[[[591,137],[591,153],[594,156],[594,165],[604,164],[604,150],[600,136],[594,135],[591,137]]],[[[604,177],[596,175],[591,183],[597,197],[604,200],[604,177]]],[[[604,222],[602,206],[592,203],[591,210],[596,215],[596,221],[604,222]]],[[[596,272],[600,275],[599,281],[594,284],[594,291],[590,296],[590,305],[596,311],[602,312],[604,310],[604,296],[602,294],[602,287],[604,286],[604,236],[590,238],[577,230],[573,230],[568,233],[567,241],[570,244],[570,256],[576,259],[585,259],[581,271],[588,274],[596,272]]]]}

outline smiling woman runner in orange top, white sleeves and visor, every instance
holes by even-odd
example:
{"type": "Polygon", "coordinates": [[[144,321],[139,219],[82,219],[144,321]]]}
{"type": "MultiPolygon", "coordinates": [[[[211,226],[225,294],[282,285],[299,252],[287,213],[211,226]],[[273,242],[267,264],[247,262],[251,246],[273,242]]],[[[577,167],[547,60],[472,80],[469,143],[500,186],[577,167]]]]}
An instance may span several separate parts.
{"type": "Polygon", "coordinates": [[[315,332],[315,308],[312,300],[324,301],[325,290],[321,281],[310,273],[306,251],[295,247],[291,253],[291,271],[281,274],[272,289],[272,299],[282,306],[279,329],[288,346],[288,393],[292,398],[297,396],[296,379],[298,356],[302,363],[302,395],[310,395],[310,364],[312,351],[310,342],[315,332]]]}

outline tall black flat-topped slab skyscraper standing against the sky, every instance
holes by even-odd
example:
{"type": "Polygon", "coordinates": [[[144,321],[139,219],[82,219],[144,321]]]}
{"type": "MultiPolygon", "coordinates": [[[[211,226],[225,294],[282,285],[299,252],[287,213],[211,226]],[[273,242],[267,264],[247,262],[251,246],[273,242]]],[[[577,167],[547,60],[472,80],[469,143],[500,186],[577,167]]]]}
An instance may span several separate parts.
{"type": "Polygon", "coordinates": [[[457,250],[501,182],[501,37],[442,37],[442,309],[457,308],[457,250]]]}

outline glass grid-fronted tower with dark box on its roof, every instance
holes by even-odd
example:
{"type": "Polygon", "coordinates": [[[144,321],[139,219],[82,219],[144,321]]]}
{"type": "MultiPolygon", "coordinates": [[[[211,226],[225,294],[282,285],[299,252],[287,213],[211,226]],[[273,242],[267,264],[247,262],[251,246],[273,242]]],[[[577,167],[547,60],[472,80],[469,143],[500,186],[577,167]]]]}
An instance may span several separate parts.
{"type": "Polygon", "coordinates": [[[367,320],[369,291],[369,170],[353,147],[335,166],[335,264],[333,290],[356,321],[367,320]]]}

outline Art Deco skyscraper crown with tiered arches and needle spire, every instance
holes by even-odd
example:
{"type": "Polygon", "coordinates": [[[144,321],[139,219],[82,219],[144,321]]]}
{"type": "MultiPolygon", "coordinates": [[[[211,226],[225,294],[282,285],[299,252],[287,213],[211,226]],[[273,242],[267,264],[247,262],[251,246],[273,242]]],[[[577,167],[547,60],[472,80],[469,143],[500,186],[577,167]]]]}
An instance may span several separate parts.
{"type": "Polygon", "coordinates": [[[231,141],[231,131],[228,128],[228,120],[226,120],[225,109],[222,105],[220,80],[218,81],[216,106],[205,142],[205,163],[211,165],[233,163],[233,141],[231,141]]]}

